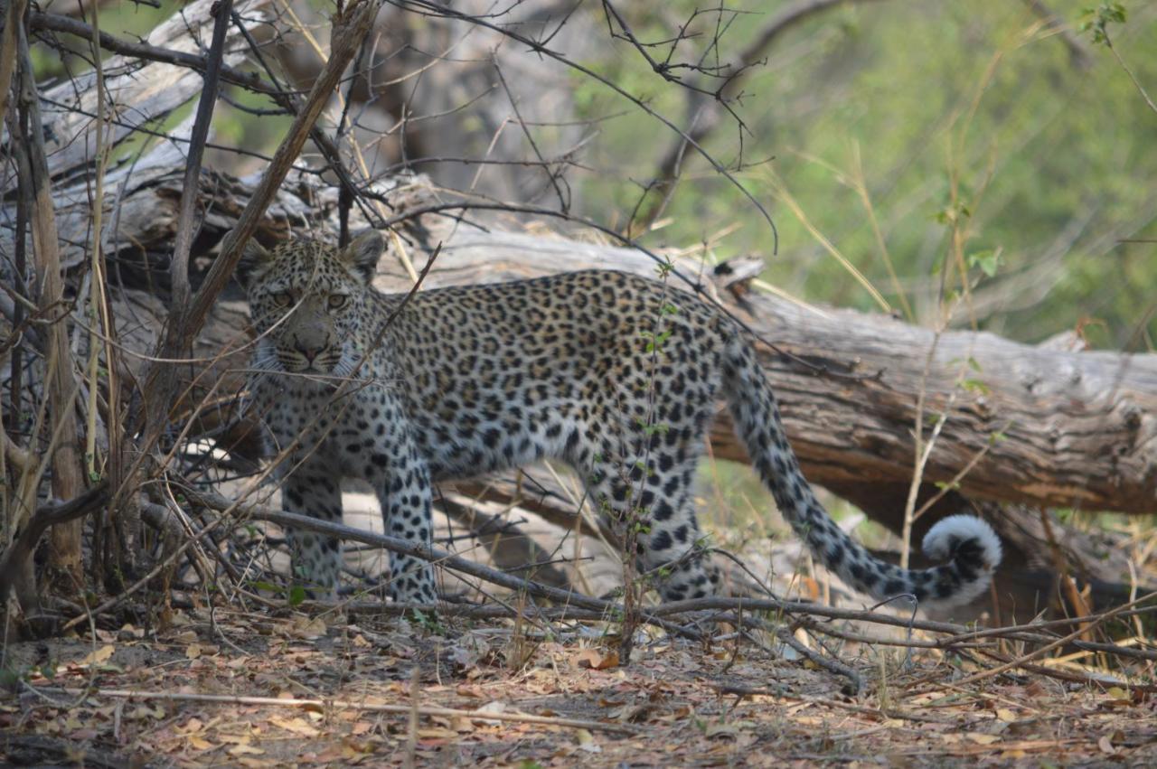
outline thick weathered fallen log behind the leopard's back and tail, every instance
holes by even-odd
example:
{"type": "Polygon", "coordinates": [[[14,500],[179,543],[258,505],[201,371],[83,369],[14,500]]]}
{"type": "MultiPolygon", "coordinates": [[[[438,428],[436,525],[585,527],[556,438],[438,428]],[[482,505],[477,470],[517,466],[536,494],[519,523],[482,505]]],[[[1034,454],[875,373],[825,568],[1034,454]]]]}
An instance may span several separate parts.
{"type": "MultiPolygon", "coordinates": [[[[401,288],[403,273],[385,267],[383,288],[401,288]]],[[[655,274],[650,258],[626,249],[459,228],[427,286],[588,267],[655,274]]],[[[983,452],[959,480],[968,497],[1157,511],[1157,355],[1055,350],[989,333],[937,335],[765,294],[749,293],[743,308],[721,298],[754,332],[791,443],[816,483],[908,483],[924,390],[928,417],[948,412],[927,482],[951,482],[983,452]]],[[[716,457],[746,459],[722,409],[712,443],[716,457]]]]}

